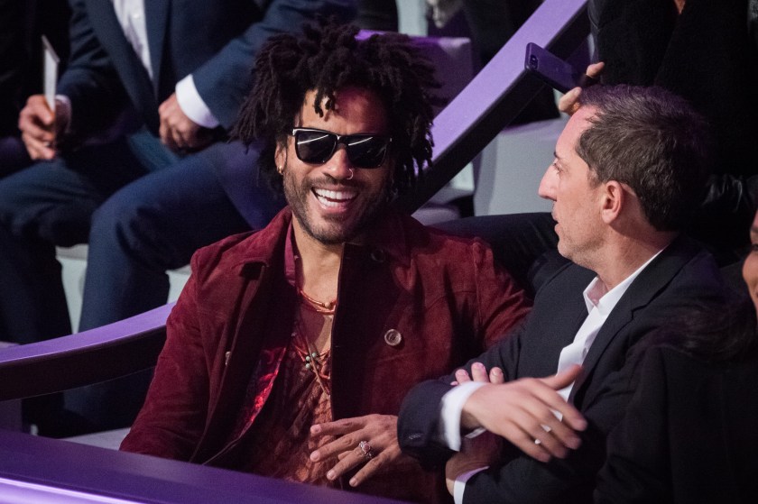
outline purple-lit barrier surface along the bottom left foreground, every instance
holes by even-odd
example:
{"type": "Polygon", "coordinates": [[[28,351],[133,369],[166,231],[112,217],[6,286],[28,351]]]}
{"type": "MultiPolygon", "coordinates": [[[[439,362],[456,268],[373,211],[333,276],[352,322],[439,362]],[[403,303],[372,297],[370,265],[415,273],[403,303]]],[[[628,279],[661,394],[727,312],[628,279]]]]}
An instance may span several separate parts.
{"type": "Polygon", "coordinates": [[[0,502],[391,504],[397,501],[0,431],[0,502]]]}

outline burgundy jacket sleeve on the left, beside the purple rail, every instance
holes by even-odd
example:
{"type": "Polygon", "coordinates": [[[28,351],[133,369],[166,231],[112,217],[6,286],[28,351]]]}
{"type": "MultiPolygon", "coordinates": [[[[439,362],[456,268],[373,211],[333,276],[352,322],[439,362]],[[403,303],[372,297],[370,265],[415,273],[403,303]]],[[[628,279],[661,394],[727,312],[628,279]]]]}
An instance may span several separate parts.
{"type": "Polygon", "coordinates": [[[208,413],[208,363],[200,338],[197,254],[193,274],[166,322],[166,344],[158,358],[144,406],[121,450],[188,461],[208,413]]]}

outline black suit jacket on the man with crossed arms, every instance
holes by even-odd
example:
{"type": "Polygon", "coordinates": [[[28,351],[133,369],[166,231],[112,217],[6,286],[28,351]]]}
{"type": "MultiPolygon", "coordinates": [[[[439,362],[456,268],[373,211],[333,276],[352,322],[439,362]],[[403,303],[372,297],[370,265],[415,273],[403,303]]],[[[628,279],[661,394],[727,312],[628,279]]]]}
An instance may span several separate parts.
{"type": "MultiPolygon", "coordinates": [[[[560,351],[587,317],[582,291],[595,273],[568,264],[538,291],[532,314],[501,344],[476,361],[499,366],[505,380],[544,377],[558,368],[560,351]]],[[[619,422],[629,393],[617,386],[630,348],[653,328],[696,302],[723,301],[726,289],[711,256],[679,237],[653,260],[619,300],[596,336],[582,376],[571,391],[587,418],[582,446],[564,460],[540,463],[507,444],[499,465],[467,482],[467,502],[589,501],[605,458],[605,436],[619,422]]],[[[474,362],[474,361],[472,361],[474,362]]],[[[467,366],[470,366],[469,362],[467,366]]],[[[434,465],[451,452],[439,444],[439,404],[452,375],[421,383],[405,399],[398,438],[405,453],[434,465]]]]}

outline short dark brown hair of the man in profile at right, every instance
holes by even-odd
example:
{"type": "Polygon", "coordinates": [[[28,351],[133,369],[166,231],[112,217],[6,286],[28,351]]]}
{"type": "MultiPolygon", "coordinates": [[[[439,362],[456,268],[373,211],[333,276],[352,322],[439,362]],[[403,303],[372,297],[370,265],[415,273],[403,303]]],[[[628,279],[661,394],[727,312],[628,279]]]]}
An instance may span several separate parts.
{"type": "Polygon", "coordinates": [[[576,146],[596,181],[627,184],[655,229],[681,230],[704,197],[711,168],[706,121],[661,87],[593,86],[579,101],[596,108],[576,146]]]}

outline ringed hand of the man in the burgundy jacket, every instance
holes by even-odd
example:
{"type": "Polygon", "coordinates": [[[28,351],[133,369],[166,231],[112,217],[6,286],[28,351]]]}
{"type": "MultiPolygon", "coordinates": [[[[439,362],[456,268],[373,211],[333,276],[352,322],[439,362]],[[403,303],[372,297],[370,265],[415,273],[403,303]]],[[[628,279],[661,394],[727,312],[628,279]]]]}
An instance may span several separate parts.
{"type": "Polygon", "coordinates": [[[397,444],[397,417],[393,415],[366,415],[317,424],[310,427],[310,435],[337,436],[337,439],[310,454],[312,462],[326,462],[337,457],[339,462],[327,472],[329,481],[365,464],[350,479],[351,487],[360,485],[375,472],[387,469],[390,465],[408,463],[411,460],[401,453],[400,445],[397,444]],[[368,445],[361,448],[362,441],[368,445]]]}

